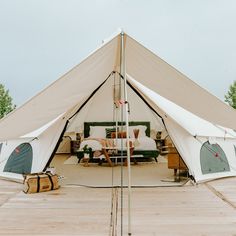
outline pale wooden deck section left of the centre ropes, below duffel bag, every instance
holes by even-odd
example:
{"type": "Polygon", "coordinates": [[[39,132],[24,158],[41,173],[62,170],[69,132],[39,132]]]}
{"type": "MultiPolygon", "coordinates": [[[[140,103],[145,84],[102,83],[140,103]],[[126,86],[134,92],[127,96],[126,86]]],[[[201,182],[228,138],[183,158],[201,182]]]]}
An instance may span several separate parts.
{"type": "Polygon", "coordinates": [[[106,189],[18,189],[0,208],[0,235],[108,235],[109,200],[106,189]]]}

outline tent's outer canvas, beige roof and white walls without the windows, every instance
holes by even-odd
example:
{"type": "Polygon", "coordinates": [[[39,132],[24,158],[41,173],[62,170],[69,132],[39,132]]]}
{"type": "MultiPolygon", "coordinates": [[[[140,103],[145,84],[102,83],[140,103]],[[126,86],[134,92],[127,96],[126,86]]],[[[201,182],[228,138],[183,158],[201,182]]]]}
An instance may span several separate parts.
{"type": "MultiPolygon", "coordinates": [[[[80,115],[78,111],[106,87],[111,74],[120,71],[120,37],[121,32],[118,32],[79,65],[0,121],[1,175],[6,174],[4,166],[7,159],[12,150],[22,143],[22,139],[32,145],[31,171],[45,168],[70,118],[75,113],[80,115]]],[[[172,140],[194,178],[201,181],[235,175],[236,144],[235,133],[231,130],[236,129],[235,110],[129,35],[124,34],[124,39],[129,85],[162,115],[172,140]],[[171,112],[173,110],[178,112],[171,112]],[[188,122],[189,117],[194,122],[188,122]],[[226,131],[228,135],[224,135],[226,131]],[[230,156],[230,171],[211,175],[201,173],[199,139],[206,142],[209,137],[217,137],[225,148],[226,156],[230,156]]]]}

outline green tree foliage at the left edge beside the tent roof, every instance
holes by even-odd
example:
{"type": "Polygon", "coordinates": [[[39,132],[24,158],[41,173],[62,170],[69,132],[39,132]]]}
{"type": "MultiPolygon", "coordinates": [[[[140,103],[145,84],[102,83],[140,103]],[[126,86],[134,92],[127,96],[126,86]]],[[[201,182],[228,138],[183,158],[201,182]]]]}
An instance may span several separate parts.
{"type": "Polygon", "coordinates": [[[15,107],[16,106],[12,104],[9,90],[6,90],[4,85],[0,84],[0,119],[14,110],[15,107]]]}

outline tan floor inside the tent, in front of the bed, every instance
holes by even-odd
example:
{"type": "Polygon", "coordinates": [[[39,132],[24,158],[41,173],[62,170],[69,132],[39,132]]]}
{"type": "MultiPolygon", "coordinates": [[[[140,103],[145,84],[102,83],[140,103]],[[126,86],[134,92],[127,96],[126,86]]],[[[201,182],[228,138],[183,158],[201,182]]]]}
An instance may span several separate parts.
{"type": "MultiPolygon", "coordinates": [[[[84,163],[68,163],[71,155],[57,154],[53,158],[50,166],[56,168],[56,173],[60,175],[61,185],[78,185],[88,187],[112,187],[121,185],[121,165],[114,167],[103,163],[89,163],[88,167],[84,163]],[[112,181],[113,175],[113,181],[112,181]],[[113,183],[112,183],[113,182],[113,183]]],[[[72,157],[73,158],[73,157],[72,157]]],[[[182,186],[188,178],[185,175],[174,176],[174,171],[168,169],[165,158],[162,161],[131,163],[131,182],[133,187],[158,187],[158,186],[182,186]]],[[[75,159],[76,160],[76,159],[75,159]]],[[[127,167],[123,167],[123,186],[127,186],[127,167]]]]}

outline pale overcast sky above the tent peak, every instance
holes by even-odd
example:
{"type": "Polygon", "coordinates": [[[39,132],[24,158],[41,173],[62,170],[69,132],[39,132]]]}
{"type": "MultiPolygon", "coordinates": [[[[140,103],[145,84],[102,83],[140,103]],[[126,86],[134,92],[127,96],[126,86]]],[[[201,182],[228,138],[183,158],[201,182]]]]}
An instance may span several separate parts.
{"type": "Polygon", "coordinates": [[[234,0],[0,0],[0,83],[21,105],[118,28],[221,100],[236,80],[234,0]]]}

